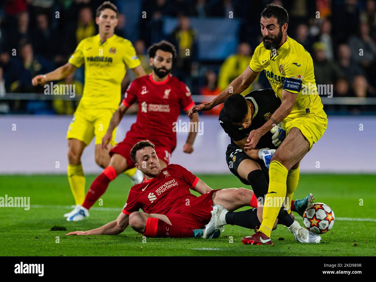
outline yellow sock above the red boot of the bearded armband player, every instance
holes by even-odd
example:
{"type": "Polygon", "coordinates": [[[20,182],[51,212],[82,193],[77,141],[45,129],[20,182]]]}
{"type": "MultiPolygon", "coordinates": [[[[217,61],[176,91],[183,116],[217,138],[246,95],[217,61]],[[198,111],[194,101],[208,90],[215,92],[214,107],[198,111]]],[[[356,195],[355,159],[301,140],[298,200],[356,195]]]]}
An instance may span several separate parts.
{"type": "Polygon", "coordinates": [[[262,222],[259,231],[270,237],[274,222],[286,196],[288,170],[280,162],[273,160],[269,167],[269,189],[265,196],[262,222]]]}

